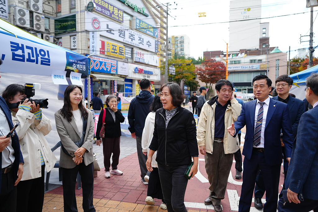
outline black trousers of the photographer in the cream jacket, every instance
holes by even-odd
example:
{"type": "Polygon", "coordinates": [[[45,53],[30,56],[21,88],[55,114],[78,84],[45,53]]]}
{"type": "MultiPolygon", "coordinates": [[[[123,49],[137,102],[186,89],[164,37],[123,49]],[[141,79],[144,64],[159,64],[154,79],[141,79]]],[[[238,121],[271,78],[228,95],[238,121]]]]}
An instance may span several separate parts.
{"type": "Polygon", "coordinates": [[[44,170],[41,177],[20,181],[17,184],[17,212],[42,212],[44,201],[44,170]]]}

